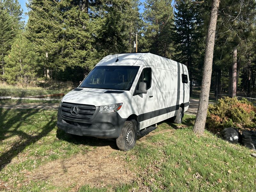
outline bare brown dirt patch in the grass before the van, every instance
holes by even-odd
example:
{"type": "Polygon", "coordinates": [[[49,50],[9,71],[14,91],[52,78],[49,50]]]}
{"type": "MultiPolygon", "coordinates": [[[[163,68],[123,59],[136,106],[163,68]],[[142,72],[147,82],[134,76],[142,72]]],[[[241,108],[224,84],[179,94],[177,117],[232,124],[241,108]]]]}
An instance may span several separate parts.
{"type": "Polygon", "coordinates": [[[28,172],[25,182],[44,180],[59,187],[76,184],[76,189],[86,184],[102,187],[131,183],[135,174],[126,162],[111,156],[114,151],[110,147],[100,147],[86,154],[51,161],[28,172]]]}

